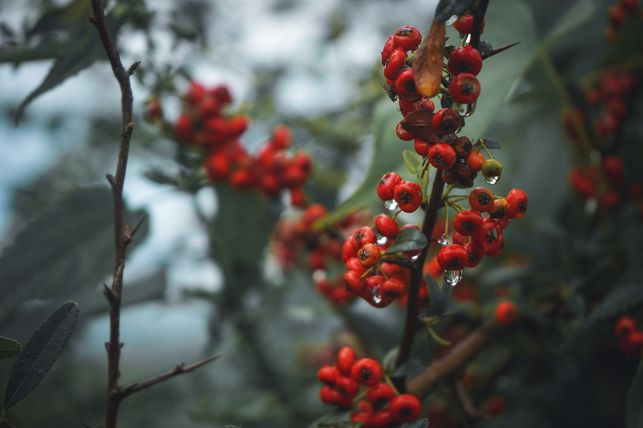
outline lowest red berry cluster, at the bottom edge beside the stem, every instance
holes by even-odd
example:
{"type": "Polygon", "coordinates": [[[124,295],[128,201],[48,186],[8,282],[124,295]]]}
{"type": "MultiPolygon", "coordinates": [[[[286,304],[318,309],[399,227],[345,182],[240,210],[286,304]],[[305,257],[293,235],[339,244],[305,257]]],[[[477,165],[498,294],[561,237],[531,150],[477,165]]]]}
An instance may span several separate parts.
{"type": "Polygon", "coordinates": [[[320,390],[321,401],[340,407],[352,407],[354,399],[362,394],[351,413],[351,422],[364,428],[395,428],[416,420],[422,411],[419,398],[398,394],[388,383],[382,382],[382,366],[370,358],[356,360],[352,348],[341,348],[334,366],[323,366],[317,378],[324,384],[320,390]]]}

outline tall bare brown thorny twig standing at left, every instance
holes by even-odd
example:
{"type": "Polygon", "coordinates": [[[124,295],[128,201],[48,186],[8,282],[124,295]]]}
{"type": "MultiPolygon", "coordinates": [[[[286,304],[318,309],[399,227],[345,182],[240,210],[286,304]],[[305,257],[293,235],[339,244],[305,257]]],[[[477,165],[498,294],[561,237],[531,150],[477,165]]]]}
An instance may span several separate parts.
{"type": "MultiPolygon", "coordinates": [[[[120,371],[118,368],[120,361],[120,308],[121,294],[123,289],[123,271],[125,269],[125,253],[127,245],[131,240],[131,231],[129,234],[123,225],[123,184],[125,183],[125,172],[127,170],[127,159],[129,157],[129,145],[134,130],[132,123],[133,97],[132,87],[129,81],[130,72],[123,67],[120,55],[116,51],[112,41],[107,24],[105,23],[105,13],[102,8],[101,0],[91,0],[91,6],[94,12],[93,17],[89,17],[89,22],[96,26],[103,48],[109,59],[114,77],[120,85],[121,91],[121,110],[122,110],[122,127],[120,147],[118,150],[118,162],[116,164],[116,175],[107,174],[107,181],[112,187],[114,200],[114,240],[116,243],[116,260],[114,263],[114,278],[109,292],[105,295],[109,301],[109,343],[107,343],[107,411],[105,415],[105,427],[116,427],[116,415],[118,406],[122,399],[122,393],[118,386],[118,377],[120,371]]],[[[136,63],[138,66],[138,63],[136,63]]],[[[136,66],[131,67],[131,71],[136,66]]]]}

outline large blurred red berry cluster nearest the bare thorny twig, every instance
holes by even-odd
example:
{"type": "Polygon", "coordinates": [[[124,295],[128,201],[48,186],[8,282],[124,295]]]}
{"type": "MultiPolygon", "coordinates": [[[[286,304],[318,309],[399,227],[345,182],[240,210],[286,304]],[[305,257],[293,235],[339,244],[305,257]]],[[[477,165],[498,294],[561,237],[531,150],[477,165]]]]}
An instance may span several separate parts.
{"type": "MultiPolygon", "coordinates": [[[[211,181],[226,181],[239,190],[256,188],[269,198],[288,189],[294,206],[305,205],[302,187],[311,174],[311,158],[305,152],[289,156],[286,149],[291,144],[291,131],[287,127],[275,127],[266,145],[253,156],[239,139],[248,128],[248,116],[224,115],[224,107],[232,102],[226,86],[206,89],[192,82],[183,101],[174,136],[205,151],[203,166],[211,181]]],[[[150,109],[150,116],[153,114],[150,109]]]]}

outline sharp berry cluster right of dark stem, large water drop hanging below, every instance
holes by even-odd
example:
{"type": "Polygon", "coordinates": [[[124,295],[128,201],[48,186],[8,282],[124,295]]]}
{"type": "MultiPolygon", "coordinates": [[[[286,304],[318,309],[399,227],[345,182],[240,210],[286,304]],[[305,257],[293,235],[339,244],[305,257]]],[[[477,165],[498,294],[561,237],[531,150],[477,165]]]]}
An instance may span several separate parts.
{"type": "MultiPolygon", "coordinates": [[[[464,197],[462,197],[464,199],[464,197]]],[[[464,210],[455,202],[449,206],[459,212],[453,218],[452,243],[440,249],[437,262],[444,271],[444,279],[455,285],[462,277],[464,267],[475,267],[483,256],[495,257],[504,245],[503,229],[512,218],[521,218],[527,212],[527,193],[513,189],[507,197],[495,197],[486,187],[476,187],[466,197],[471,209],[464,210]],[[487,213],[487,217],[482,217],[487,213]]],[[[440,239],[448,244],[446,234],[440,239]]]]}

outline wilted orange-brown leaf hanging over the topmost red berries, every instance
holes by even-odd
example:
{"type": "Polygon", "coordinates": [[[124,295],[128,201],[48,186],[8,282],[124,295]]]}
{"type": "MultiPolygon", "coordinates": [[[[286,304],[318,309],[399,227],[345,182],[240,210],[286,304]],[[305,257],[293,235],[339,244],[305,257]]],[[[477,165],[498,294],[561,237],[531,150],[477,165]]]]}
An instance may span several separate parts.
{"type": "Polygon", "coordinates": [[[431,98],[438,93],[442,83],[442,51],[446,30],[444,22],[433,21],[428,36],[415,52],[411,68],[415,89],[422,96],[431,98]]]}

